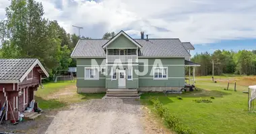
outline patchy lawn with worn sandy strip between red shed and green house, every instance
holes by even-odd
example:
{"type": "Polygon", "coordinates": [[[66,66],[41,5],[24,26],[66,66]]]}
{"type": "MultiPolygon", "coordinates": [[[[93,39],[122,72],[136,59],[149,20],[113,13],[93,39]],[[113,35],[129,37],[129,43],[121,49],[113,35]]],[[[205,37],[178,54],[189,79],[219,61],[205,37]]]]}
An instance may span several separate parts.
{"type": "Polygon", "coordinates": [[[35,98],[41,109],[59,109],[72,103],[79,103],[92,98],[102,98],[104,94],[77,94],[76,82],[49,82],[36,91],[35,98]]]}

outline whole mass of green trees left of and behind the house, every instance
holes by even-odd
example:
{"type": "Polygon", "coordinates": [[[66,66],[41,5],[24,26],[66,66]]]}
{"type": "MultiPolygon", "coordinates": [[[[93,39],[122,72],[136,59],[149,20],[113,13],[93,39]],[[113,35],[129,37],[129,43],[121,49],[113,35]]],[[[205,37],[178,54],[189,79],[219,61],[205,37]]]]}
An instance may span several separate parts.
{"type": "MultiPolygon", "coordinates": [[[[34,0],[11,0],[6,18],[0,21],[0,58],[38,58],[50,73],[68,70],[76,62],[70,58],[80,38],[69,34],[56,20],[44,17],[42,3],[34,0]]],[[[106,33],[108,39],[115,33],[106,33]]]]}

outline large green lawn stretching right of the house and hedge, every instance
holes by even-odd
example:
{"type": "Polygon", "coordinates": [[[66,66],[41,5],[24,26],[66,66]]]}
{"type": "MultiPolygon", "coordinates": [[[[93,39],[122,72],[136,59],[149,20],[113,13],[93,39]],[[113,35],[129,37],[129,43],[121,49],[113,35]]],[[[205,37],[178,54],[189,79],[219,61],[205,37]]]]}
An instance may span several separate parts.
{"type": "Polygon", "coordinates": [[[146,105],[150,96],[156,96],[171,113],[196,133],[253,133],[256,130],[256,113],[247,111],[247,96],[243,90],[256,84],[255,76],[216,76],[217,83],[211,81],[211,76],[197,77],[196,86],[199,89],[179,96],[177,94],[164,96],[163,93],[147,93],[141,96],[146,105]],[[224,90],[230,82],[229,90],[224,90]],[[234,92],[236,82],[237,92],[234,92]],[[195,99],[210,99],[213,103],[195,103],[195,99]]]}

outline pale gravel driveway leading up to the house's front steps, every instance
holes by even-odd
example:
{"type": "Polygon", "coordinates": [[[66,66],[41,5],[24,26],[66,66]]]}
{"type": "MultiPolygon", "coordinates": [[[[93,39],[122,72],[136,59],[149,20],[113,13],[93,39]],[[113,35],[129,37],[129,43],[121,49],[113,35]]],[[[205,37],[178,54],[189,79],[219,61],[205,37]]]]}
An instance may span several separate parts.
{"type": "Polygon", "coordinates": [[[60,111],[46,133],[143,133],[141,107],[133,99],[96,99],[60,111]]]}

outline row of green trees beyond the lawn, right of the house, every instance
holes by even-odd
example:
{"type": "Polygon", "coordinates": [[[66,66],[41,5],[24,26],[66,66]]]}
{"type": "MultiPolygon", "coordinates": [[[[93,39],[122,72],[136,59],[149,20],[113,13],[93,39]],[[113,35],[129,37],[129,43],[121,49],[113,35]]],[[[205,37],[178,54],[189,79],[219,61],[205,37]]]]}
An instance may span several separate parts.
{"type": "Polygon", "coordinates": [[[239,50],[238,52],[216,50],[213,54],[203,52],[195,54],[191,61],[201,64],[196,68],[196,74],[200,76],[212,75],[212,64],[214,63],[214,74],[256,74],[256,50],[239,50]]]}

